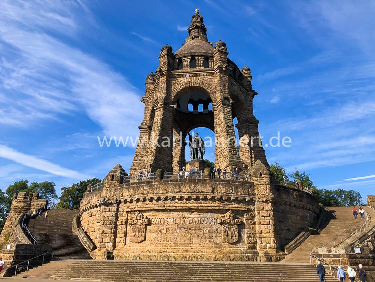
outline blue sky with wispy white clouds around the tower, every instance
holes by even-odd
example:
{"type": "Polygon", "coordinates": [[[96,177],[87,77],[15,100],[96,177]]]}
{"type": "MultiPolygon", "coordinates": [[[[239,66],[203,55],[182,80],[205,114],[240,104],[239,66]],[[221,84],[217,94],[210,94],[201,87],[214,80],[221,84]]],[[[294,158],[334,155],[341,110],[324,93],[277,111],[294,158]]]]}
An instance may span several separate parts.
{"type": "Polygon", "coordinates": [[[292,139],[266,148],[268,161],[319,188],[374,194],[372,1],[3,1],[1,189],[48,180],[59,192],[117,163],[128,171],[134,149],[97,136],[138,134],[145,77],[161,46],[181,47],[195,8],[208,40],[251,68],[260,133],[292,139]]]}

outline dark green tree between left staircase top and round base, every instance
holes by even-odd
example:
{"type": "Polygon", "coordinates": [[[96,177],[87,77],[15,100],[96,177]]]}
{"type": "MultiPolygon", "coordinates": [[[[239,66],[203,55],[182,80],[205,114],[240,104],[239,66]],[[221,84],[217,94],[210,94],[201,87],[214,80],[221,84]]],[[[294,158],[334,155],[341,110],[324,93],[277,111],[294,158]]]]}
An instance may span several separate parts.
{"type": "Polygon", "coordinates": [[[70,187],[62,187],[61,188],[61,197],[57,204],[58,208],[69,208],[70,201],[73,202],[73,208],[79,208],[80,201],[83,198],[84,192],[87,190],[87,186],[89,184],[95,185],[100,183],[101,179],[99,178],[92,178],[88,180],[80,181],[79,183],[75,183],[70,187]]]}

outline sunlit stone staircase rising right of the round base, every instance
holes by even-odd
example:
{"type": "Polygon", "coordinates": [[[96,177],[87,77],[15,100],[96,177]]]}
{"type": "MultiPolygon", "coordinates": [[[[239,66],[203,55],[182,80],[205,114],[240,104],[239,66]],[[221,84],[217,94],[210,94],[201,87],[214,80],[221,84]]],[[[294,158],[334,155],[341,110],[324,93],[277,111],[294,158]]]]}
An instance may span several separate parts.
{"type": "MultiPolygon", "coordinates": [[[[320,234],[311,234],[298,248],[290,253],[282,262],[291,263],[309,263],[310,253],[313,248],[321,247],[332,241],[338,234],[349,228],[350,226],[360,227],[363,219],[354,219],[351,212],[352,207],[327,207],[327,221],[325,227],[320,234]]],[[[366,209],[372,217],[372,223],[375,221],[375,212],[373,209],[366,209]]],[[[353,236],[344,244],[348,244],[358,236],[353,236]]],[[[338,242],[337,242],[338,243],[338,242]]]]}

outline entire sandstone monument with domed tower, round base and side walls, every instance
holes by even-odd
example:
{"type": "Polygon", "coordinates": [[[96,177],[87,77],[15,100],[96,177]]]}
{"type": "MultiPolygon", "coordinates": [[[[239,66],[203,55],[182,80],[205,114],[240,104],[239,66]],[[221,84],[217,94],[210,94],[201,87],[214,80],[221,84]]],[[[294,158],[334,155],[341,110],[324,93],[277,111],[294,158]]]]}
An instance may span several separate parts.
{"type": "Polygon", "coordinates": [[[276,181],[259,143],[250,69],[239,69],[228,58],[223,41],[208,41],[198,10],[187,31],[177,51],[167,44],[161,48],[159,66],[146,77],[140,142],[129,174],[115,165],[103,182],[87,187],[79,210],[48,210],[37,193],[14,196],[0,235],[1,256],[13,265],[6,274],[52,257],[63,261],[32,275],[105,281],[160,280],[160,275],[163,280],[275,281],[282,276],[299,282],[316,280],[310,259],[330,263],[330,269],[359,259],[373,265],[375,198],[368,197],[367,217],[357,220],[350,234],[345,226],[351,207],[323,208],[300,180],[276,181]],[[214,132],[215,165],[225,168],[227,177],[212,177],[203,160],[204,140],[190,134],[197,127],[214,132]],[[165,140],[173,142],[162,145],[165,140]],[[189,165],[198,167],[193,173],[181,171],[186,146],[189,165]],[[240,177],[229,175],[233,168],[240,177]],[[46,211],[48,220],[36,218],[46,211]],[[170,262],[175,260],[185,262],[170,262]],[[282,260],[297,264],[273,263],[282,260]],[[268,280],[269,273],[277,273],[275,279],[268,280]]]}

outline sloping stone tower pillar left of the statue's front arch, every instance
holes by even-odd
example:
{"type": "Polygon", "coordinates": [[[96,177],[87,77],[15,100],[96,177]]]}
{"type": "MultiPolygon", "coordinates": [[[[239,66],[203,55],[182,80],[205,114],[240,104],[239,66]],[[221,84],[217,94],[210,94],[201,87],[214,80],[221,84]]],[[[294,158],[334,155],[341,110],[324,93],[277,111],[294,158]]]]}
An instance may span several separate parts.
{"type": "Polygon", "coordinates": [[[148,91],[151,90],[146,88],[146,95],[142,98],[146,104],[147,115],[145,113],[145,119],[139,127],[139,140],[144,142],[142,146],[141,142],[138,142],[135,151],[133,164],[130,168],[132,181],[136,181],[139,171],[155,172],[159,168],[172,171],[173,117],[170,106],[169,74],[173,69],[174,55],[169,45],[162,47],[159,59],[160,65],[153,77],[157,82],[157,91],[154,92],[152,99],[147,98],[150,93],[148,91]],[[150,117],[153,117],[152,123],[150,117]]]}

